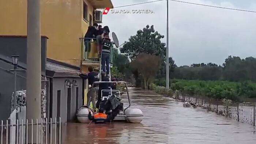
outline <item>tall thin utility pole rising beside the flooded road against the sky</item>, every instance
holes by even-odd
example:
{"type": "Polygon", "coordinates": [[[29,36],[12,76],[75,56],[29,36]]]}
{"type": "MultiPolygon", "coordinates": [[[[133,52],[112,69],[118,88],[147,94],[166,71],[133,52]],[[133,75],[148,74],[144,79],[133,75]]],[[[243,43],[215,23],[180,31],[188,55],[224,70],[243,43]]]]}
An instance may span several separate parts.
{"type": "Polygon", "coordinates": [[[167,1],[167,24],[166,24],[166,89],[169,89],[169,1],[167,1]]]}

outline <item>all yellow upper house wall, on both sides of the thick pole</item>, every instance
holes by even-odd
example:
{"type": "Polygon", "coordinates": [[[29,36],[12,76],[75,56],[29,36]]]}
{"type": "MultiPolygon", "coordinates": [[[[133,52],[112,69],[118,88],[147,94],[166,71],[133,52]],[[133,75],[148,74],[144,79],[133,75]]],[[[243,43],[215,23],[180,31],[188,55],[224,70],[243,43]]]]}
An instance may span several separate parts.
{"type": "MultiPolygon", "coordinates": [[[[83,1],[41,0],[41,35],[46,35],[47,57],[80,66],[82,40],[89,22],[83,19],[83,1]]],[[[88,21],[89,21],[88,14],[88,21]]],[[[27,0],[0,0],[0,35],[27,35],[27,0]]]]}

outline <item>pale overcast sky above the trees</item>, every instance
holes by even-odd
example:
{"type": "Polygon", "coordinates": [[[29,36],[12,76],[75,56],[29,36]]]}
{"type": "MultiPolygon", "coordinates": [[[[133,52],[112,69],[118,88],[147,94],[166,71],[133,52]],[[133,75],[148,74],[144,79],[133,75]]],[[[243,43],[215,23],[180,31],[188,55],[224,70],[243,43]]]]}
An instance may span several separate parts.
{"type": "MultiPolygon", "coordinates": [[[[153,0],[112,0],[114,7],[153,0]]],[[[183,0],[256,11],[255,0],[183,0]]],[[[115,10],[153,10],[154,14],[103,15],[103,26],[114,31],[119,43],[128,41],[147,24],[166,36],[166,1],[115,10]]],[[[178,66],[214,62],[229,55],[256,57],[256,13],[225,10],[169,1],[169,55],[178,66]]],[[[166,42],[166,37],[162,40],[166,42]]]]}

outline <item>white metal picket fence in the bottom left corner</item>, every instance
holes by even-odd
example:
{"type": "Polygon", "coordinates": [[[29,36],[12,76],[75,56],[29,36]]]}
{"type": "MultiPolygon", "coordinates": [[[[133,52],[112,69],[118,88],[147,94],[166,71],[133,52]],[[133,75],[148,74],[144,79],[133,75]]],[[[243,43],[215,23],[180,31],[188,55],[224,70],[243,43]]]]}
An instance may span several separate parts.
{"type": "MultiPolygon", "coordinates": [[[[43,121],[41,119],[41,121],[43,121]]],[[[23,120],[1,121],[1,144],[61,144],[61,118],[44,122],[23,120]]]]}

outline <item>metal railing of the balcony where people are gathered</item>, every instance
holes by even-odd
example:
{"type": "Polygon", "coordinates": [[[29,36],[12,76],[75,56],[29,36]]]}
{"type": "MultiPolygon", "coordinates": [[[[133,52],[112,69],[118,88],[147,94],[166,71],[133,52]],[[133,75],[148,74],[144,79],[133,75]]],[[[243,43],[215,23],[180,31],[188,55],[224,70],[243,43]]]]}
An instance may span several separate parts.
{"type": "MultiPolygon", "coordinates": [[[[82,49],[82,59],[89,61],[98,61],[98,50],[96,38],[86,38],[90,39],[88,42],[84,42],[85,38],[80,38],[81,49],[82,49]]],[[[110,64],[113,64],[113,48],[110,49],[110,64]]]]}

